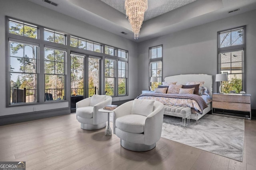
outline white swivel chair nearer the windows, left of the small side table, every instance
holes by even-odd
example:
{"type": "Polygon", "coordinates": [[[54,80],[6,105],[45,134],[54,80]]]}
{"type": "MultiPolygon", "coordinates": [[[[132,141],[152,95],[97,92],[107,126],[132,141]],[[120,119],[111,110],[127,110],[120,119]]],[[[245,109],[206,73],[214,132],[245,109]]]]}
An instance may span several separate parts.
{"type": "Polygon", "coordinates": [[[112,97],[105,95],[93,95],[90,98],[76,103],[76,119],[85,130],[95,130],[106,127],[108,114],[98,111],[106,105],[112,104],[112,97]]]}

